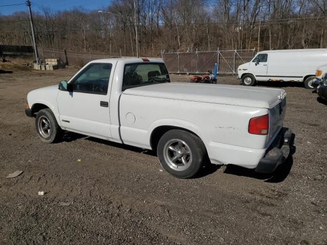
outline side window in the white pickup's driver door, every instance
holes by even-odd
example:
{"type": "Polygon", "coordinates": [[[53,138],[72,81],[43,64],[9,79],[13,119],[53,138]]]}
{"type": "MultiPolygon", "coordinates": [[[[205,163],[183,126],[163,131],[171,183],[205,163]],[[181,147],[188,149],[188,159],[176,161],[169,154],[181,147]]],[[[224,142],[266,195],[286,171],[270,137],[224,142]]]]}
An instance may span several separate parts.
{"type": "Polygon", "coordinates": [[[73,91],[107,94],[112,64],[88,65],[74,80],[73,91]]]}

